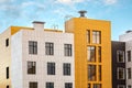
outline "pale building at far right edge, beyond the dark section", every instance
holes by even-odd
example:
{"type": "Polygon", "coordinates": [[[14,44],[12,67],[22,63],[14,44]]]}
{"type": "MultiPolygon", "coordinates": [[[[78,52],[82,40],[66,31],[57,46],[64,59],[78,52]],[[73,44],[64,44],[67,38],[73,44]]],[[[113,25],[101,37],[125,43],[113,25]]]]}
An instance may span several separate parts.
{"type": "Polygon", "coordinates": [[[132,88],[132,31],[127,31],[119,40],[125,42],[127,88],[132,88]]]}

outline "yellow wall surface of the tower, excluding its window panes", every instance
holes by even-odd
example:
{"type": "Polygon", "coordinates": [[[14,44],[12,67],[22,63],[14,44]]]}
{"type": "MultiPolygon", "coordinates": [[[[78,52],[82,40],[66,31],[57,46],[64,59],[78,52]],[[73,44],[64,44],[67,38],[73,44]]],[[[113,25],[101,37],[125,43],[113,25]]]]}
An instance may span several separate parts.
{"type": "MultiPolygon", "coordinates": [[[[88,88],[88,82],[101,84],[102,88],[111,88],[111,31],[110,22],[101,20],[90,20],[86,18],[74,18],[66,22],[66,32],[74,33],[75,36],[75,88],[88,88]],[[86,31],[100,31],[101,44],[87,44],[86,31]],[[87,46],[101,46],[101,63],[94,63],[102,66],[102,80],[88,81],[87,46]]],[[[90,34],[91,37],[91,34],[90,34]]],[[[97,52],[97,51],[96,51],[97,52]]],[[[97,55],[98,57],[98,55],[97,55]]],[[[97,69],[98,70],[98,69],[97,69]]],[[[97,78],[98,79],[98,78],[97,78]]]]}

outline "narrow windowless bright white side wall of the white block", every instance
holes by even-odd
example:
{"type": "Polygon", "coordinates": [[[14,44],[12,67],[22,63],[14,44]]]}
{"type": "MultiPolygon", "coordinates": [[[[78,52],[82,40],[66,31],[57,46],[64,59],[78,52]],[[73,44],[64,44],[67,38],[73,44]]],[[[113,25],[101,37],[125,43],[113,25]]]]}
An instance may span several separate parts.
{"type": "Polygon", "coordinates": [[[12,88],[22,86],[22,32],[11,37],[11,84],[12,88]]]}

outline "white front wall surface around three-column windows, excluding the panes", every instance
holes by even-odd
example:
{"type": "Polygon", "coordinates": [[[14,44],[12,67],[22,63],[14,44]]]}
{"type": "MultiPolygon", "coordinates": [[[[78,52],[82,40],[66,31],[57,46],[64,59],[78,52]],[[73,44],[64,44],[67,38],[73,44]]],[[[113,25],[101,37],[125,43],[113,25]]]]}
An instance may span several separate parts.
{"type": "MultiPolygon", "coordinates": [[[[54,88],[65,88],[65,82],[73,82],[75,88],[75,57],[74,57],[74,35],[69,33],[41,32],[22,30],[22,79],[23,88],[29,88],[29,81],[37,81],[38,88],[45,88],[46,81],[54,82],[54,88]],[[29,54],[29,41],[37,41],[37,55],[29,54]],[[45,55],[45,42],[54,43],[54,55],[45,55]],[[73,44],[73,56],[64,56],[64,44],[73,44]],[[28,61],[36,62],[36,75],[28,75],[28,61]],[[54,62],[56,74],[47,75],[47,62],[54,62]],[[63,76],[63,63],[70,63],[72,75],[63,76]]],[[[16,37],[15,37],[16,38],[16,37]]],[[[18,38],[19,41],[19,38],[18,38]]],[[[16,44],[13,44],[16,45],[16,44]]],[[[21,44],[20,44],[21,45],[21,44]]],[[[19,46],[20,47],[20,46],[19,46]]],[[[15,57],[18,58],[18,57],[15,57]]],[[[19,59],[18,59],[19,62],[19,59]]],[[[15,63],[15,62],[14,62],[15,63]]],[[[13,64],[18,66],[16,64],[13,64]]],[[[21,74],[20,74],[21,75],[21,74]]],[[[20,87],[14,87],[20,88],[20,87]]]]}

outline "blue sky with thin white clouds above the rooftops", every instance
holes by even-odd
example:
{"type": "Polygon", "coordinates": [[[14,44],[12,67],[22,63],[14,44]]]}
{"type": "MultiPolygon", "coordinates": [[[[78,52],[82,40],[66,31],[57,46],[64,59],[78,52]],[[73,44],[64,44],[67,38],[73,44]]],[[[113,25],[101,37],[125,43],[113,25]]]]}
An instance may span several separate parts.
{"type": "Polygon", "coordinates": [[[44,21],[45,28],[58,25],[64,30],[66,16],[111,21],[111,38],[132,30],[132,0],[0,0],[0,33],[11,25],[32,26],[33,21],[44,21]]]}

